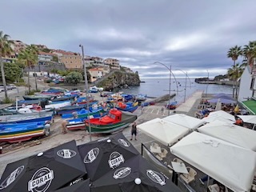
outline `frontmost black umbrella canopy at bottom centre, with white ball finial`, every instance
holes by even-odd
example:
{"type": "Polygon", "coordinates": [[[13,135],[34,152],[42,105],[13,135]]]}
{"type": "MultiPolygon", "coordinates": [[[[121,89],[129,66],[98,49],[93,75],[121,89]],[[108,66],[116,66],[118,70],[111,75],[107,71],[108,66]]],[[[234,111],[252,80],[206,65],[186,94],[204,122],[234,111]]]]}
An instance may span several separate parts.
{"type": "Polygon", "coordinates": [[[91,192],[180,192],[165,175],[161,174],[145,158],[138,155],[128,159],[118,169],[110,170],[92,182],[91,192]]]}

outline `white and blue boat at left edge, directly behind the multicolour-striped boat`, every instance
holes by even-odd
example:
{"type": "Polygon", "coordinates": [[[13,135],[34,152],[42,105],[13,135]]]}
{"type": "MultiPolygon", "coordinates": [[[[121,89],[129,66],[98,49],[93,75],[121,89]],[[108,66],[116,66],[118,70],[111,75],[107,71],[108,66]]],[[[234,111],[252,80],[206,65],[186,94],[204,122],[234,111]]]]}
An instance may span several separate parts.
{"type": "Polygon", "coordinates": [[[23,122],[51,122],[54,112],[41,112],[32,114],[13,114],[0,116],[0,124],[23,123],[23,122]]]}

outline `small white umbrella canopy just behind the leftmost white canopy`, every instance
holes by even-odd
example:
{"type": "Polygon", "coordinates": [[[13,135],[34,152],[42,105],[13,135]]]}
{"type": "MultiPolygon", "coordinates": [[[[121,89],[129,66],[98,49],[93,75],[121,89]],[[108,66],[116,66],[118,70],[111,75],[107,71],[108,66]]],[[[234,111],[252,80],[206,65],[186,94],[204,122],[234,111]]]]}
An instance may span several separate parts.
{"type": "Polygon", "coordinates": [[[175,124],[178,124],[179,126],[185,126],[186,128],[191,130],[194,130],[206,123],[202,119],[194,118],[186,114],[174,114],[162,119],[167,122],[173,122],[175,124]]]}

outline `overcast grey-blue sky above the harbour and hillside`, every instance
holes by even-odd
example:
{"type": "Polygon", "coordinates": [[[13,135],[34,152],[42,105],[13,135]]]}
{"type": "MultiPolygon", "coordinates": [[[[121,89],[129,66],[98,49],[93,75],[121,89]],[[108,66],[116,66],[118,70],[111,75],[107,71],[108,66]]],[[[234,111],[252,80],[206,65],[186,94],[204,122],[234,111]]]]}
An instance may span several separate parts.
{"type": "MultiPolygon", "coordinates": [[[[214,77],[256,40],[255,0],[1,0],[11,39],[118,58],[140,78],[214,77]],[[168,68],[168,69],[167,69],[168,68]]],[[[242,58],[238,60],[242,62],[242,58]]]]}

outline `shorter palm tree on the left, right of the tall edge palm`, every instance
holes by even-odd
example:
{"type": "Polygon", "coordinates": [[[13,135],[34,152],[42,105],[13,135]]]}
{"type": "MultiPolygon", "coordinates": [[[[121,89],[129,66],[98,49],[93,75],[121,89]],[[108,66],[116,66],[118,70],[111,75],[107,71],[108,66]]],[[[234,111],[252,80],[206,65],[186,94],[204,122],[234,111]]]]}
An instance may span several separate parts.
{"type": "MultiPolygon", "coordinates": [[[[31,91],[30,90],[30,68],[32,68],[34,66],[34,64],[38,61],[37,50],[34,48],[34,46],[27,46],[25,50],[22,50],[22,52],[20,54],[18,54],[18,59],[25,62],[25,65],[29,69],[27,82],[28,82],[29,92],[30,92],[31,91]]],[[[36,89],[37,89],[36,79],[35,79],[35,82],[36,82],[35,85],[36,85],[36,89]]]]}

